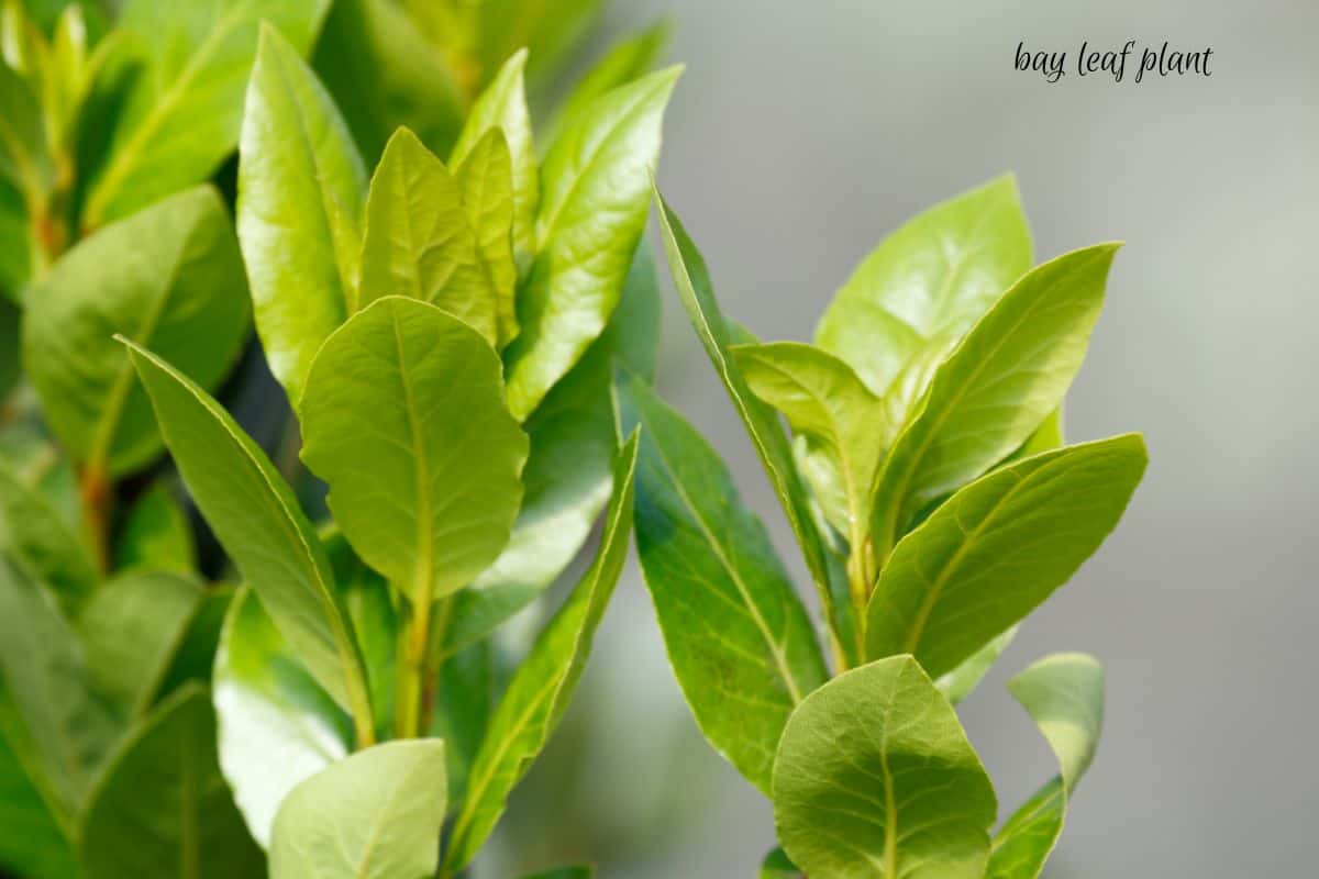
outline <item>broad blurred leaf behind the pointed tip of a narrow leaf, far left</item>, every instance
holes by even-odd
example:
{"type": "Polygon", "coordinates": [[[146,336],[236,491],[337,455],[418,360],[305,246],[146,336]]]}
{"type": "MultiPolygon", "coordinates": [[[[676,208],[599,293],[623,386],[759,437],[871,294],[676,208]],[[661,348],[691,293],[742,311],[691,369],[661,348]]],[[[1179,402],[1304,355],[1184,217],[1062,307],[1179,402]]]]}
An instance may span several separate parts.
{"type": "Polygon", "coordinates": [[[214,389],[241,351],[249,306],[243,261],[219,194],[181,192],[102,229],[29,295],[22,358],[61,443],[121,476],[161,451],[123,335],[214,389]]]}

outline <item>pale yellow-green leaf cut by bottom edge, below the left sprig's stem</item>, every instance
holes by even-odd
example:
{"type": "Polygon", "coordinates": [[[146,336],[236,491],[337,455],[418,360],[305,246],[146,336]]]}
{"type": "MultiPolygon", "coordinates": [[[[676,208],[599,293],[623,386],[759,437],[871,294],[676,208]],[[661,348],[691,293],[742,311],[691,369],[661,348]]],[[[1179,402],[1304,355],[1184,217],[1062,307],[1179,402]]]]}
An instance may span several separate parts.
{"type": "Polygon", "coordinates": [[[272,879],[425,879],[439,866],[445,743],[388,742],[311,776],[284,800],[272,879]]]}

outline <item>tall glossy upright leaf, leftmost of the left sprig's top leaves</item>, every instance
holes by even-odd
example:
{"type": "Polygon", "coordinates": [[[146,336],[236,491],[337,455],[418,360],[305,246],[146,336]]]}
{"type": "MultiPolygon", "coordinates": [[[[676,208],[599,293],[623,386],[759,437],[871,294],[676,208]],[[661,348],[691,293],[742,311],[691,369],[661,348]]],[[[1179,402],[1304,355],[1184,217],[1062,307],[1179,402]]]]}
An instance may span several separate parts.
{"type": "Polygon", "coordinates": [[[330,95],[264,29],[239,141],[237,228],[265,358],[294,405],[321,343],[356,308],[365,198],[330,95]]]}

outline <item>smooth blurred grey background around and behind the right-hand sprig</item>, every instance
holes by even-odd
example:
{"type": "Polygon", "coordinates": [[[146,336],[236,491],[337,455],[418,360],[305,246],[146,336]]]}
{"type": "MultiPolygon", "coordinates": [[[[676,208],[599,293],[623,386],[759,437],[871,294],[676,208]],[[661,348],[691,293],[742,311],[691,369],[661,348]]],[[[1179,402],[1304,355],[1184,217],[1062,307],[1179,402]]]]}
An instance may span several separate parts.
{"type": "MultiPolygon", "coordinates": [[[[1006,814],[1054,766],[1002,683],[1055,650],[1107,664],[1104,739],[1047,876],[1316,875],[1319,4],[617,0],[600,42],[663,13],[687,71],[661,183],[725,311],[765,339],[809,339],[885,233],[1005,170],[1037,258],[1128,242],[1067,430],[1144,431],[1149,473],[962,714],[1006,814]],[[1047,84],[1012,66],[1021,40],[1074,63],[1082,40],[1128,38],[1212,46],[1213,75],[1047,84]]],[[[666,297],[661,390],[806,582],[666,297]]],[[[505,832],[533,842],[521,863],[753,876],[773,845],[768,803],[682,704],[634,567],[553,747],[541,766],[559,775],[537,770],[521,812],[549,799],[566,829],[520,824],[514,804],[505,832]]]]}

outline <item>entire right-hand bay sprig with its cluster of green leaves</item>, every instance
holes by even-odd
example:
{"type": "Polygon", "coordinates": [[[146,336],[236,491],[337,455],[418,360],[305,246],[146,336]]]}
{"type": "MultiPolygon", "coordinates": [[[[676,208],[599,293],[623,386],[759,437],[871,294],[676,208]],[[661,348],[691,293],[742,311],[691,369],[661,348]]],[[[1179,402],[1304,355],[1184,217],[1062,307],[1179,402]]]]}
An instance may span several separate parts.
{"type": "Polygon", "coordinates": [[[997,829],[955,705],[1099,548],[1144,473],[1138,435],[1062,440],[1117,245],[1031,268],[1001,178],[881,241],[814,343],[760,343],[720,311],[657,200],[674,285],[823,618],[827,651],[716,452],[623,369],[645,581],[696,723],[773,803],[781,849],[761,875],[1038,876],[1093,756],[1103,669],[1058,654],[1009,683],[1059,772],[997,829]]]}

